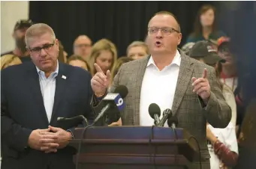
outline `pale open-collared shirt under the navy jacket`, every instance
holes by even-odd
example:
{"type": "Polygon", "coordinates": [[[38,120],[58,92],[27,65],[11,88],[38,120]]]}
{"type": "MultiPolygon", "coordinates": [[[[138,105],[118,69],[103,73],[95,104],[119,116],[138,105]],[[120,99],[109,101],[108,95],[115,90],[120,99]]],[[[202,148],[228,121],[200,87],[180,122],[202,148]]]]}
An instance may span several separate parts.
{"type": "Polygon", "coordinates": [[[51,73],[48,78],[45,76],[44,71],[39,70],[38,67],[36,68],[38,70],[41,93],[44,99],[44,108],[47,112],[47,118],[50,123],[50,119],[53,113],[53,104],[56,89],[56,76],[58,76],[59,73],[59,62],[57,63],[56,70],[53,73],[51,73]]]}

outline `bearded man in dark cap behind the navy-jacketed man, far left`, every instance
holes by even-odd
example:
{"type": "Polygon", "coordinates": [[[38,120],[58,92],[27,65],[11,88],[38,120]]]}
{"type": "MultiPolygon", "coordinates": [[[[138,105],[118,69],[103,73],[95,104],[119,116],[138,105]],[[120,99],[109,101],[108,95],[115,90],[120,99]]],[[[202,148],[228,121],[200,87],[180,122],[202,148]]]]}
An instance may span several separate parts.
{"type": "Polygon", "coordinates": [[[16,22],[14,26],[14,40],[15,40],[15,49],[14,51],[11,52],[6,52],[2,54],[1,56],[4,55],[17,55],[22,62],[24,61],[30,61],[31,58],[29,57],[29,52],[26,49],[26,43],[25,43],[25,34],[26,30],[32,25],[32,21],[26,20],[26,19],[21,19],[18,22],[16,22]]]}

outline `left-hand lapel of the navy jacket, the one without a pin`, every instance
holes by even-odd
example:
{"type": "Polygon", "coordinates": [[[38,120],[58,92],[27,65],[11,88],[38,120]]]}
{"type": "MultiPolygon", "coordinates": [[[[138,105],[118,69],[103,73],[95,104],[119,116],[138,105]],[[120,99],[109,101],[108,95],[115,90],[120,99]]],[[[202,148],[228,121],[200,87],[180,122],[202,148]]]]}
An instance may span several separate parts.
{"type": "Polygon", "coordinates": [[[27,66],[28,66],[29,76],[26,76],[26,78],[28,79],[28,82],[29,82],[28,84],[30,85],[30,89],[32,90],[32,95],[34,96],[35,104],[38,105],[40,116],[42,115],[45,122],[48,124],[49,122],[47,118],[47,112],[45,111],[45,108],[44,108],[44,99],[41,92],[38,71],[35,68],[35,64],[33,64],[32,62],[29,63],[27,66]]]}

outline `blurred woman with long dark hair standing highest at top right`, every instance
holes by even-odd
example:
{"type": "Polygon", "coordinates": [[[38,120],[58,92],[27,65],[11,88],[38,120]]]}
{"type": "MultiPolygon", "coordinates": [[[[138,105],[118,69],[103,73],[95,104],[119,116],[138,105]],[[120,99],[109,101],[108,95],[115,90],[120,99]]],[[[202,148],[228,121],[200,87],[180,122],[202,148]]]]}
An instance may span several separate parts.
{"type": "Polygon", "coordinates": [[[215,7],[211,4],[204,4],[198,11],[194,22],[194,31],[188,36],[187,42],[197,42],[200,40],[217,40],[226,36],[224,32],[216,30],[215,7]]]}

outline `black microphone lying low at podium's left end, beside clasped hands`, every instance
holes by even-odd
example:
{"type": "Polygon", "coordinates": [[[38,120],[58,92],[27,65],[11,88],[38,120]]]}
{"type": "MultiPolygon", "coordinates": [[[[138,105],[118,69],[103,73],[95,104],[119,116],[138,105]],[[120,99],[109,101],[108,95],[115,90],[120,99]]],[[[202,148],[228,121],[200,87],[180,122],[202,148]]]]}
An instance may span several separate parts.
{"type": "Polygon", "coordinates": [[[78,126],[81,123],[83,124],[83,126],[88,125],[88,121],[86,117],[84,117],[83,115],[79,115],[71,118],[58,117],[56,126],[62,129],[70,129],[74,126],[78,126]]]}

